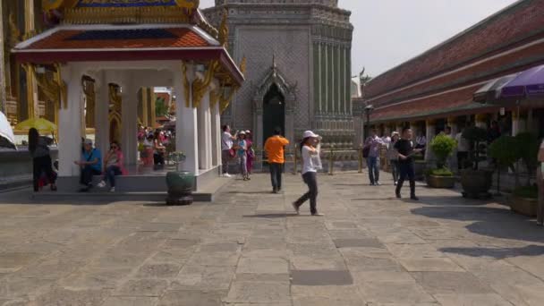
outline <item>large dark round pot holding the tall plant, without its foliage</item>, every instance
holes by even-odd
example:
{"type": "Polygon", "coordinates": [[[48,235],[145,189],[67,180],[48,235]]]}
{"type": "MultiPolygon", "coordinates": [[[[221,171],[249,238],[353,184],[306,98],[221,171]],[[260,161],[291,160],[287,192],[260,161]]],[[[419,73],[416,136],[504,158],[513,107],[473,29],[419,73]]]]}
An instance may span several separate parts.
{"type": "Polygon", "coordinates": [[[490,170],[461,170],[461,185],[463,186],[463,197],[474,199],[489,199],[493,178],[493,171],[490,170]]]}

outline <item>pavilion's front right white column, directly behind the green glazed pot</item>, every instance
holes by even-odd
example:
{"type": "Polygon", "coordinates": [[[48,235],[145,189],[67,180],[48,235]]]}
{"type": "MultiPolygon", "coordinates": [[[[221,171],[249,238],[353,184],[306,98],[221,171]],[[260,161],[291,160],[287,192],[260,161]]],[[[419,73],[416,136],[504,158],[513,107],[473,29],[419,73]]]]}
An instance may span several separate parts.
{"type": "MultiPolygon", "coordinates": [[[[187,66],[187,74],[191,82],[194,78],[194,66],[187,66]]],[[[198,174],[199,143],[197,132],[197,110],[191,106],[185,106],[181,65],[179,70],[174,71],[174,91],[175,96],[179,97],[175,99],[175,148],[178,151],[183,151],[187,157],[182,165],[182,169],[193,174],[198,174]]]]}

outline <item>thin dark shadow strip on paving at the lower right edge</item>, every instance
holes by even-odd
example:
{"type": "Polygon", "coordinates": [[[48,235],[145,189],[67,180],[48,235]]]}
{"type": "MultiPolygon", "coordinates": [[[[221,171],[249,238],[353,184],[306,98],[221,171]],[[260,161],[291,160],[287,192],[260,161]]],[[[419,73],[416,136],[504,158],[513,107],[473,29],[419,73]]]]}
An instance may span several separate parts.
{"type": "Polygon", "coordinates": [[[492,257],[506,259],[517,256],[540,256],[544,254],[544,246],[527,245],[523,248],[442,248],[439,251],[461,254],[471,257],[492,257]]]}

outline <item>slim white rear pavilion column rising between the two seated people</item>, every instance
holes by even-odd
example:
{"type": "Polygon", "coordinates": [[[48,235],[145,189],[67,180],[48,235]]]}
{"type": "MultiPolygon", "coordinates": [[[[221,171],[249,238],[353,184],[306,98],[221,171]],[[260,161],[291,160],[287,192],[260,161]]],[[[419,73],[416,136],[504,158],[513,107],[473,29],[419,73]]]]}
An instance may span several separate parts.
{"type": "Polygon", "coordinates": [[[103,71],[98,72],[95,78],[95,139],[96,147],[102,152],[106,152],[109,145],[109,94],[104,74],[103,71]]]}

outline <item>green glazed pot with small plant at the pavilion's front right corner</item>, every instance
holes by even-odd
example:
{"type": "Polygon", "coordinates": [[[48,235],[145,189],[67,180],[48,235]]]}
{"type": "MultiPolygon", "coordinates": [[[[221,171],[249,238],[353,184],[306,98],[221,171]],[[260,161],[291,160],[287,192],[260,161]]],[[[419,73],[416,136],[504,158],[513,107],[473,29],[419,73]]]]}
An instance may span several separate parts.
{"type": "Polygon", "coordinates": [[[180,166],[185,161],[183,152],[172,152],[169,159],[174,161],[175,170],[166,174],[166,186],[168,187],[168,205],[191,205],[192,191],[194,189],[194,174],[188,171],[181,171],[180,166]]]}

